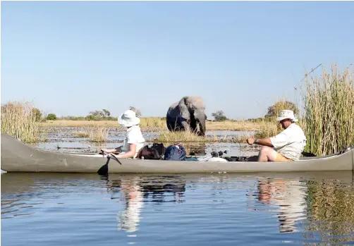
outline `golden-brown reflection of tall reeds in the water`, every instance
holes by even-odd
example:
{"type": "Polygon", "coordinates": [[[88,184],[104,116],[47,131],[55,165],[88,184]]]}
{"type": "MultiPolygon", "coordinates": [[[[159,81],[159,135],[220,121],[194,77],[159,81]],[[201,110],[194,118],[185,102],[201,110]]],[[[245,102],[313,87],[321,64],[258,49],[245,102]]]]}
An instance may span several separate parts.
{"type": "Polygon", "coordinates": [[[307,214],[311,216],[305,228],[305,238],[322,242],[351,242],[354,245],[354,187],[327,179],[306,180],[307,214]]]}

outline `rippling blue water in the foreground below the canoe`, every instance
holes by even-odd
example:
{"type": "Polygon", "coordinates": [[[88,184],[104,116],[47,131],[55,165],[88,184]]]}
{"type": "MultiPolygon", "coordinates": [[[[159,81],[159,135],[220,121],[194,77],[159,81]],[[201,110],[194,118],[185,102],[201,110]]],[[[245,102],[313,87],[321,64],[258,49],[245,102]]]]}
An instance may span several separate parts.
{"type": "Polygon", "coordinates": [[[1,174],[1,245],[353,245],[353,173],[1,174]]]}

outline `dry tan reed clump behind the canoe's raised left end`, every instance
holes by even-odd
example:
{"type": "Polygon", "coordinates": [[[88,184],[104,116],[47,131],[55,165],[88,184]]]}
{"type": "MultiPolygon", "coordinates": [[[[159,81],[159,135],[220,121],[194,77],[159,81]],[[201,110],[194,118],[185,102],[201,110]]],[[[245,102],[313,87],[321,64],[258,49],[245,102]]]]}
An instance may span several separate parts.
{"type": "Polygon", "coordinates": [[[34,107],[28,102],[8,102],[1,106],[1,133],[23,142],[37,142],[39,128],[34,107]]]}

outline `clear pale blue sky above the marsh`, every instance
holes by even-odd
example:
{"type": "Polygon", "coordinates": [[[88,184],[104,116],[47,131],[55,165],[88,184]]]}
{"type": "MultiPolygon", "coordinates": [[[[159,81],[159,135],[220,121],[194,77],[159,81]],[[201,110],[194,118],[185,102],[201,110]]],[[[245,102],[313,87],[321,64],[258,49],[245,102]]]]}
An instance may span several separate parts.
{"type": "Polygon", "coordinates": [[[197,95],[208,118],[262,117],[299,102],[320,63],[353,68],[353,13],[353,1],[1,1],[1,104],[148,117],[197,95]]]}

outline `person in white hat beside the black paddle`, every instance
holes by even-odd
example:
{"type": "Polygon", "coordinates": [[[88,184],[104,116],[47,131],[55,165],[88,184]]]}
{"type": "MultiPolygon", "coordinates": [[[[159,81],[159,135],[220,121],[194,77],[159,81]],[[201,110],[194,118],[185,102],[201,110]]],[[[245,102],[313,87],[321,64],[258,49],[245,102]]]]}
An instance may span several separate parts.
{"type": "Polygon", "coordinates": [[[112,154],[119,152],[115,155],[117,158],[135,158],[145,143],[139,126],[140,118],[136,116],[135,111],[127,110],[118,118],[118,123],[127,128],[123,145],[115,149],[101,149],[101,151],[112,154]]]}

